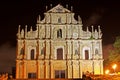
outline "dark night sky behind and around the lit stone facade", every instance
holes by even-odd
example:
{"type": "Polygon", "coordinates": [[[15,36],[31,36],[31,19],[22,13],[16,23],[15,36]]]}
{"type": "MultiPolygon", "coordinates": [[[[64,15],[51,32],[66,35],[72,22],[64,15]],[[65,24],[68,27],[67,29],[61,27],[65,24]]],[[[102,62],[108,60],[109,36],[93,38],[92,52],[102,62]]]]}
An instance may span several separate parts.
{"type": "MultiPolygon", "coordinates": [[[[102,0],[16,0],[0,2],[0,72],[11,72],[15,66],[16,34],[18,25],[33,26],[40,14],[42,19],[46,5],[48,10],[57,4],[68,9],[73,6],[75,18],[80,15],[83,29],[91,25],[101,26],[103,33],[103,46],[113,44],[116,36],[120,36],[120,3],[119,1],[102,0]]],[[[77,18],[76,18],[77,19],[77,18]]]]}

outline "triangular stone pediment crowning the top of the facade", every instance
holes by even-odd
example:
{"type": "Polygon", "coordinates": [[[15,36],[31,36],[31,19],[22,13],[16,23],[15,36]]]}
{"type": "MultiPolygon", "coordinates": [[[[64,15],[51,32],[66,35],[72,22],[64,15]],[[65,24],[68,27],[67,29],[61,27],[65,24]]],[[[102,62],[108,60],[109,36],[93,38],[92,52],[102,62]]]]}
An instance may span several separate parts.
{"type": "Polygon", "coordinates": [[[48,12],[60,13],[60,12],[70,12],[70,10],[68,10],[68,9],[64,8],[62,5],[58,4],[57,6],[50,9],[48,12]]]}

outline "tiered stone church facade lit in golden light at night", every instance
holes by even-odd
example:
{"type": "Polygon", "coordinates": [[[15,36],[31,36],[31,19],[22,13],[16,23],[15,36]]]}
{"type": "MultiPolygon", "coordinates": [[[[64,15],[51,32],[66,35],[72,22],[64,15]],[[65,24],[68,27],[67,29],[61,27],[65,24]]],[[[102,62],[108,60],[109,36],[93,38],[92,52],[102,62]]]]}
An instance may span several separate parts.
{"type": "Polygon", "coordinates": [[[102,33],[82,29],[80,16],[60,4],[37,19],[36,30],[19,26],[16,79],[81,78],[83,73],[103,74],[102,33]]]}

